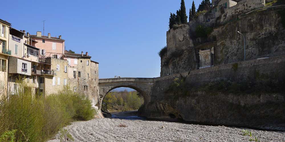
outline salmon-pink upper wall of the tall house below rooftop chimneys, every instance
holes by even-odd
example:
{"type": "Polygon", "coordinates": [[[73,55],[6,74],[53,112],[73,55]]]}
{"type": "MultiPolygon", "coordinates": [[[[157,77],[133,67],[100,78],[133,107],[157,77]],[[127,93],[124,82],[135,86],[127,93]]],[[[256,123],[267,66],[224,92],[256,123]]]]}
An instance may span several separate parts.
{"type": "Polygon", "coordinates": [[[48,39],[48,38],[40,38],[40,37],[32,37],[38,43],[35,43],[35,47],[39,49],[45,49],[46,53],[59,53],[64,54],[64,40],[57,39],[48,39]],[[42,39],[45,40],[45,43],[42,43],[42,39]],[[52,50],[52,43],[56,43],[56,50],[52,50]]]}

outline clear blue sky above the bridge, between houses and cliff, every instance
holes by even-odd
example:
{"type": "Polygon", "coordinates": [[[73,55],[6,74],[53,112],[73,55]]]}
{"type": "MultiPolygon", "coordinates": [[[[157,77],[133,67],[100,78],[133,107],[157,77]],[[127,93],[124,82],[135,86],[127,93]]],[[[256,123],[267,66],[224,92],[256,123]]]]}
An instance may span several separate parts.
{"type": "MultiPolygon", "coordinates": [[[[201,0],[195,0],[196,9],[201,0]]],[[[185,0],[186,13],[192,0],[185,0]]],[[[62,35],[66,49],[88,51],[99,78],[160,76],[158,51],[166,45],[170,12],[180,0],[20,1],[2,7],[0,18],[30,34],[62,35]]]]}

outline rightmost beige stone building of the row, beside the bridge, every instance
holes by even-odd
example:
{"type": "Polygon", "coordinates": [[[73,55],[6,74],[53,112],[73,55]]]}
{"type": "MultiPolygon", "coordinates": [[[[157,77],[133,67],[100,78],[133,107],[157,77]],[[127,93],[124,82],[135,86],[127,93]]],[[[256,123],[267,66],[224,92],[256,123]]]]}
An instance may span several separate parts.
{"type": "Polygon", "coordinates": [[[98,90],[98,68],[99,63],[91,61],[91,56],[83,54],[69,53],[65,51],[64,60],[68,61],[68,84],[75,92],[83,92],[97,104],[99,97],[98,90]]]}

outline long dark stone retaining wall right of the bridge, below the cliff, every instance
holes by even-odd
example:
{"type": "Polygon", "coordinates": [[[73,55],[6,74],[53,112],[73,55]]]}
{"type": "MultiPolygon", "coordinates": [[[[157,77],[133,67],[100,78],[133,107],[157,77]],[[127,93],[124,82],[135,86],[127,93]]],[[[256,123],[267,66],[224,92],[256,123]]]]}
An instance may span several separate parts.
{"type": "MultiPolygon", "coordinates": [[[[240,82],[263,79],[285,81],[285,56],[223,64],[181,74],[154,78],[151,101],[143,116],[161,119],[182,119],[219,125],[256,128],[285,128],[284,93],[222,93],[203,91],[203,86],[215,81],[240,82]],[[174,78],[186,77],[191,86],[188,95],[166,93],[174,78]],[[268,76],[269,78],[266,78],[268,76]],[[262,79],[263,78],[263,79],[262,79]],[[192,87],[201,89],[191,92],[192,87]]],[[[283,83],[282,83],[283,82],[283,83]]]]}

